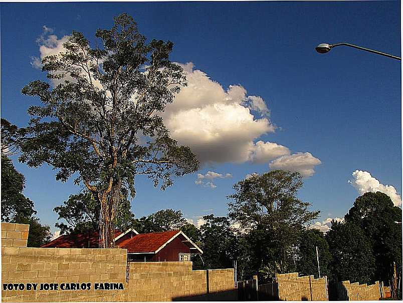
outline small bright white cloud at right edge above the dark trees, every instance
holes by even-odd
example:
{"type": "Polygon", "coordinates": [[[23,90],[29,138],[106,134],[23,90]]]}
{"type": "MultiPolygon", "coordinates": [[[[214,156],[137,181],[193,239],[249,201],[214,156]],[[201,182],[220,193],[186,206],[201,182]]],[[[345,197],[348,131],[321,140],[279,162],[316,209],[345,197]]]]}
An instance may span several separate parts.
{"type": "Polygon", "coordinates": [[[352,180],[348,180],[360,195],[366,192],[383,192],[387,194],[394,205],[401,205],[401,197],[392,185],[383,185],[377,179],[371,176],[367,171],[355,170],[352,173],[352,180]]]}

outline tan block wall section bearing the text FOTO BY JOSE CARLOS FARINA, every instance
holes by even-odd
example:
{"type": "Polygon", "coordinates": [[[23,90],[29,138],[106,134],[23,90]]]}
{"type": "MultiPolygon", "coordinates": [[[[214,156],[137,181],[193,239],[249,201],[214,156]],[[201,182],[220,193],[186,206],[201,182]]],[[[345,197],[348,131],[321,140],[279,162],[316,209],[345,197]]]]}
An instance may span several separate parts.
{"type": "Polygon", "coordinates": [[[5,302],[116,301],[123,290],[95,282],[126,281],[125,249],[2,247],[2,283],[92,283],[90,290],[3,290],[5,302]]]}

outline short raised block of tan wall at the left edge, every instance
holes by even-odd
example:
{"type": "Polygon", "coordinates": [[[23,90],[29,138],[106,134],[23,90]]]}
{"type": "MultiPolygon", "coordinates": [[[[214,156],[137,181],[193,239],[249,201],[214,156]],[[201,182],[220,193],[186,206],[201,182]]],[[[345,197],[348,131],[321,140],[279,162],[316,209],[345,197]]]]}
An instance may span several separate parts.
{"type": "Polygon", "coordinates": [[[27,247],[28,224],[2,223],[2,247],[27,247]]]}

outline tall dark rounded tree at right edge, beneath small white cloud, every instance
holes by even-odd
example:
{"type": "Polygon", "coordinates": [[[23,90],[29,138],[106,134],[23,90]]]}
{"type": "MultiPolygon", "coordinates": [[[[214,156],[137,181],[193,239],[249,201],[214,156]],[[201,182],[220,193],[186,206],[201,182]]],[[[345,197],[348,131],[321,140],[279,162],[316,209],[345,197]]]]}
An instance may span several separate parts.
{"type": "Polygon", "coordinates": [[[367,192],[355,199],[345,221],[359,226],[371,243],[375,257],[375,279],[388,283],[393,262],[401,268],[401,208],[381,192],[367,192]]]}

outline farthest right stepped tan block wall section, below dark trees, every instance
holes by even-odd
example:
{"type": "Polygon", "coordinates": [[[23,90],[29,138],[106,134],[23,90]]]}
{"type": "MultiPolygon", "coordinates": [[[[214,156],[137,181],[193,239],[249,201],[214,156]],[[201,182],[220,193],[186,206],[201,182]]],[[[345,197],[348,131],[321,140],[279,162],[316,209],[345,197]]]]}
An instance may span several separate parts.
{"type": "Polygon", "coordinates": [[[338,285],[338,295],[340,300],[354,301],[379,300],[382,297],[379,281],[371,285],[342,281],[338,285]]]}

